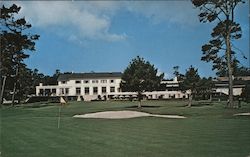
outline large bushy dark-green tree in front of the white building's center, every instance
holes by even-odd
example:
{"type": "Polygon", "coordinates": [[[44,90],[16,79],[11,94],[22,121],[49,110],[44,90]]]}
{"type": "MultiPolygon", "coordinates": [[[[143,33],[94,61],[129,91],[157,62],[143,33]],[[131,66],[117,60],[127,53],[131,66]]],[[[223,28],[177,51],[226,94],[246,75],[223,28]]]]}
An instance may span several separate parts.
{"type": "Polygon", "coordinates": [[[157,75],[158,69],[149,61],[137,56],[130,62],[122,75],[121,89],[127,92],[137,92],[138,108],[141,107],[143,93],[160,88],[164,74],[157,75]]]}

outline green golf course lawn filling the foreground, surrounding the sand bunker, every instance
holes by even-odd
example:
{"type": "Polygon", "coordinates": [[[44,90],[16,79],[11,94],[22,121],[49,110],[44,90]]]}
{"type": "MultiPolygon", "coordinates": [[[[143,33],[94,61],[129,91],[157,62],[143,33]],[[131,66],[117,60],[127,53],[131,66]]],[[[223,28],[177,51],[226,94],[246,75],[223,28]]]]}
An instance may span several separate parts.
{"type": "MultiPolygon", "coordinates": [[[[138,110],[136,102],[71,102],[1,109],[2,157],[248,157],[250,104],[225,109],[223,103],[145,101],[144,112],[184,115],[186,119],[75,119],[75,114],[138,110]]],[[[0,155],[0,156],[1,156],[0,155]]]]}

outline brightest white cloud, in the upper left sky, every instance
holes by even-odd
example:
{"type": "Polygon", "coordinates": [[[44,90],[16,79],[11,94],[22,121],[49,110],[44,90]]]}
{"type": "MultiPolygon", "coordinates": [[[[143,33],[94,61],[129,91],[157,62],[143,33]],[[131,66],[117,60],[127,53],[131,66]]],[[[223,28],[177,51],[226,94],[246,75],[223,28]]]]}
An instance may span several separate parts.
{"type": "Polygon", "coordinates": [[[69,33],[75,33],[83,39],[118,41],[126,38],[123,34],[109,32],[110,18],[101,14],[102,10],[91,11],[93,2],[86,2],[86,5],[83,2],[69,1],[26,1],[17,3],[22,6],[21,14],[25,15],[27,20],[35,27],[44,29],[54,27],[55,30],[59,30],[57,32],[66,31],[70,28],[73,31],[69,33]]]}

